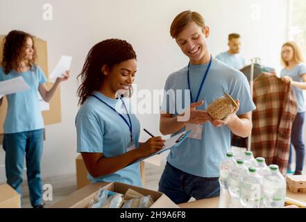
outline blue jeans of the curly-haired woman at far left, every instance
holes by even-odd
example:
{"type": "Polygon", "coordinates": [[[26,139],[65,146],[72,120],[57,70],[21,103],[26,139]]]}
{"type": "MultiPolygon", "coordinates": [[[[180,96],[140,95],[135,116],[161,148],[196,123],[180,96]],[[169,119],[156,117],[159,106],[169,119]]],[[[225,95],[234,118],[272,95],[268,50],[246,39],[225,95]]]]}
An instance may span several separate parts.
{"type": "Polygon", "coordinates": [[[22,198],[22,175],[24,157],[26,157],[26,175],[31,205],[42,202],[42,178],[40,177],[40,161],[42,157],[43,129],[22,133],[3,135],[3,149],[6,151],[7,183],[14,188],[22,198]]]}

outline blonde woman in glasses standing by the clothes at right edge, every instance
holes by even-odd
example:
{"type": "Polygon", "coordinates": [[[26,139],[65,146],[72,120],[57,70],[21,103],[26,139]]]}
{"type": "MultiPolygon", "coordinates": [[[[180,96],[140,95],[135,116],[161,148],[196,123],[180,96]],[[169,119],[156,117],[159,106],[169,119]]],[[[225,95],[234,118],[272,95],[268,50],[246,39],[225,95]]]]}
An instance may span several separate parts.
{"type": "Polygon", "coordinates": [[[280,72],[280,77],[287,83],[291,83],[298,103],[298,113],[294,119],[291,130],[291,146],[288,162],[288,173],[291,171],[292,145],[296,151],[296,170],[295,175],[302,174],[305,160],[305,144],[303,143],[303,123],[305,119],[305,95],[306,89],[306,65],[300,48],[296,42],[286,42],[282,45],[281,62],[284,68],[280,72]]]}

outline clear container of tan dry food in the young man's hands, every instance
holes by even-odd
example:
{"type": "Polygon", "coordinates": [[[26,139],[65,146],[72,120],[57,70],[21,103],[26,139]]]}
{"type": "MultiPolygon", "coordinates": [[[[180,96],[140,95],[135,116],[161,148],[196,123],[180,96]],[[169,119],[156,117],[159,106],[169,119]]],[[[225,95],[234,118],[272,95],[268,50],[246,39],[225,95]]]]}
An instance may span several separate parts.
{"type": "Polygon", "coordinates": [[[232,99],[232,97],[225,93],[223,96],[216,99],[214,102],[210,103],[207,107],[207,112],[210,114],[212,119],[226,119],[229,114],[238,108],[237,103],[232,99]]]}

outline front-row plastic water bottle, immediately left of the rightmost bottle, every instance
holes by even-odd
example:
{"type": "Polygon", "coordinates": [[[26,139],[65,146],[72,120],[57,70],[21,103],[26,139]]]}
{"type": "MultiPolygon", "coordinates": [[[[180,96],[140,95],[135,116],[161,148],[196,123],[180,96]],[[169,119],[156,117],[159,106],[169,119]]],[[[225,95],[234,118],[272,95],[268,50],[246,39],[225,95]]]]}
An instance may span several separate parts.
{"type": "Polygon", "coordinates": [[[260,208],[263,205],[263,180],[255,167],[248,167],[248,174],[241,180],[240,202],[245,208],[260,208]]]}

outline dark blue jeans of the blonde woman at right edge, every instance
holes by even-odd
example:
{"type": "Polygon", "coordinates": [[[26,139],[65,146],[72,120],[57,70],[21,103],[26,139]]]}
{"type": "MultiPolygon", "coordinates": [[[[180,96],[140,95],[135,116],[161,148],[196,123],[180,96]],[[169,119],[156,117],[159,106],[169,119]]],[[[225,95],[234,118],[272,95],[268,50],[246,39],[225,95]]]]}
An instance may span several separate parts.
{"type": "Polygon", "coordinates": [[[298,112],[291,130],[291,144],[289,154],[289,167],[292,163],[292,145],[296,151],[296,171],[303,171],[305,160],[305,144],[303,143],[303,123],[305,120],[305,112],[298,112]]]}

